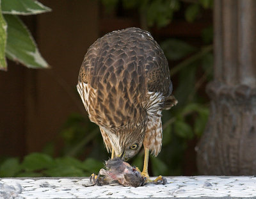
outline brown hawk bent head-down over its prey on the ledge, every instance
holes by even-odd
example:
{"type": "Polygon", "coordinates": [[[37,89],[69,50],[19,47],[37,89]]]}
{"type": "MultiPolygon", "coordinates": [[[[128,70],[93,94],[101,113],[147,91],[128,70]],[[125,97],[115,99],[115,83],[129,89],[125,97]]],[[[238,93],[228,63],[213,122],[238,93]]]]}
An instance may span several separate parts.
{"type": "Polygon", "coordinates": [[[144,146],[148,178],[148,152],[161,150],[161,111],[176,103],[168,62],[150,33],[127,28],[99,38],[84,56],[77,90],[112,158],[130,159],[144,146]]]}

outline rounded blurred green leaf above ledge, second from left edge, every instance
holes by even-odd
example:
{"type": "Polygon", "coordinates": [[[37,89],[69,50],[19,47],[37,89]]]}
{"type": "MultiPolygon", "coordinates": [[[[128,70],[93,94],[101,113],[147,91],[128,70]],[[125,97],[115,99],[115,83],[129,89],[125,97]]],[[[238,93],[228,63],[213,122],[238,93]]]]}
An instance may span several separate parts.
{"type": "Polygon", "coordinates": [[[26,155],[22,168],[26,171],[44,170],[54,166],[52,157],[46,154],[33,153],[26,155]]]}

